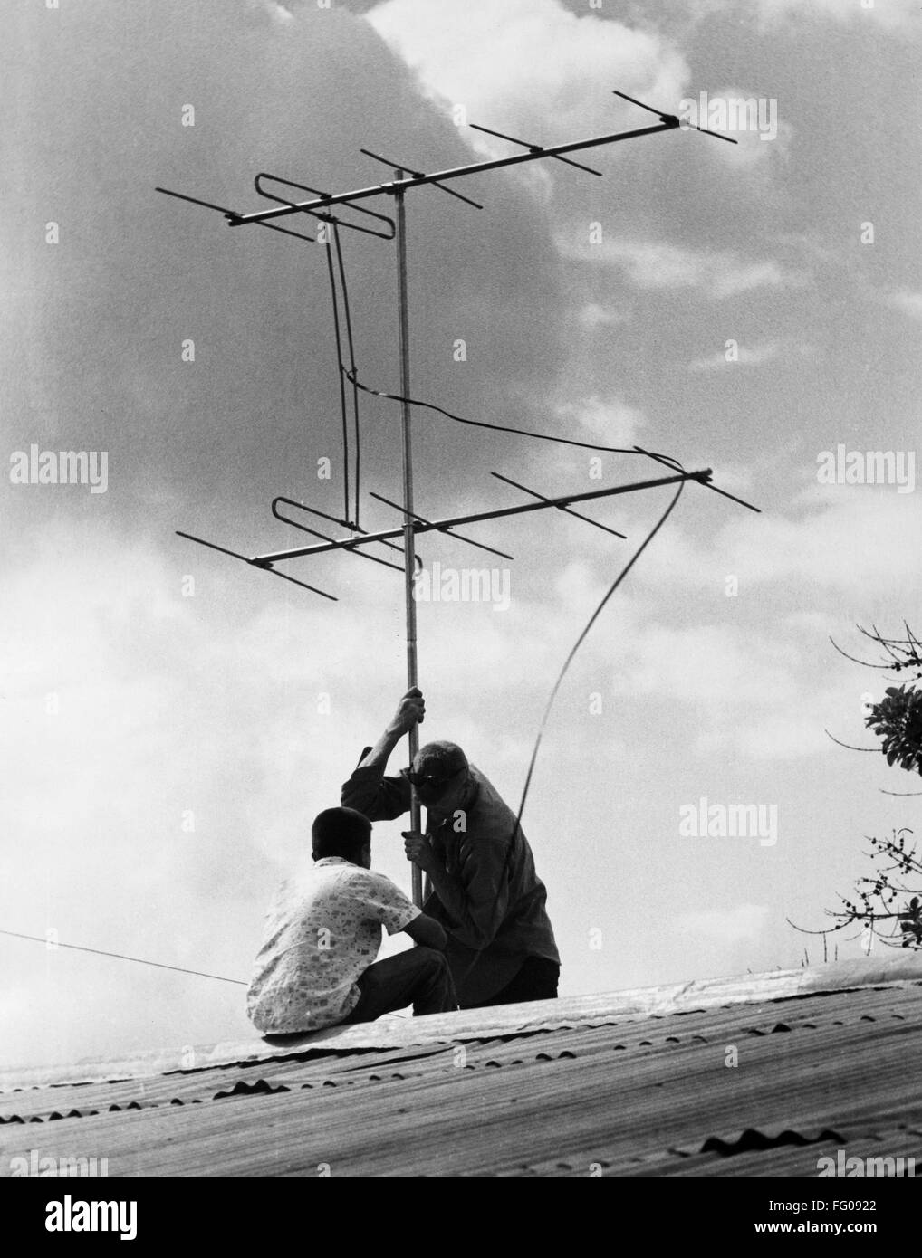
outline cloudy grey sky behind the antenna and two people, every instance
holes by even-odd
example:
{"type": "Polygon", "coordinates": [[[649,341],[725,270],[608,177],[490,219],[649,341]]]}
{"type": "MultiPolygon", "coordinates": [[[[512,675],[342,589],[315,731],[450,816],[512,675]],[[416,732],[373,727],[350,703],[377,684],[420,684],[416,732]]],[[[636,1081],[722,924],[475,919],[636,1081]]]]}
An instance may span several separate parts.
{"type": "MultiPolygon", "coordinates": [[[[261,170],[325,190],[387,177],[363,146],[427,170],[513,151],[466,121],[543,145],[655,121],[617,88],[674,113],[754,98],[771,135],[598,148],[583,160],[602,179],[475,176],[482,210],[409,194],[413,392],[647,444],[762,508],[683,493],[566,678],[524,828],[563,994],[796,966],[786,917],[821,925],[864,872],[863,835],[917,811],[880,793],[912,779],[824,732],[872,746],[863,704],[884,684],[829,637],[858,652],[855,623],[919,628],[917,4],[6,8],[5,465],[33,445],[106,452],[107,484],[1,482],[0,927],[247,979],[275,884],[404,688],[396,572],[285,567],[334,604],[174,535],[299,545],[271,498],[340,515],[344,459],[324,247],[230,230],[155,185],[248,211],[261,170]],[[839,447],[892,452],[907,476],[820,483],[839,447]],[[683,833],[702,798],[763,805],[772,840],[683,833]]],[[[360,375],[394,390],[393,245],[343,244],[360,375]]],[[[361,425],[361,525],[388,527],[368,491],[401,494],[399,408],[365,399],[361,425]]],[[[661,470],[426,410],[414,437],[432,516],[520,501],[490,470],[542,493],[661,470]]],[[[477,526],[510,565],[421,541],[430,569],[509,570],[508,609],[418,616],[422,732],[510,803],[567,652],[670,494],[587,508],[627,541],[559,513],[477,526]]],[[[399,830],[375,828],[374,860],[408,888],[399,830]]],[[[10,1063],[248,1024],[243,988],[0,937],[0,1025],[10,1063]]]]}

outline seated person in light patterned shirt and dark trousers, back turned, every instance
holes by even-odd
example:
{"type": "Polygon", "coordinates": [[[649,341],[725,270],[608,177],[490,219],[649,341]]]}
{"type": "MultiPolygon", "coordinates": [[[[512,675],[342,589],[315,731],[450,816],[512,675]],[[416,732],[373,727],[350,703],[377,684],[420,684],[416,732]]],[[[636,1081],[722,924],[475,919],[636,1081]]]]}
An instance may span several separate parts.
{"type": "Polygon", "coordinates": [[[372,872],[372,823],[327,808],[311,828],[314,863],[283,882],[266,917],[247,1013],[263,1035],[456,1009],[446,935],[384,874],[372,872]],[[375,961],[380,928],[421,947],[375,961]]]}

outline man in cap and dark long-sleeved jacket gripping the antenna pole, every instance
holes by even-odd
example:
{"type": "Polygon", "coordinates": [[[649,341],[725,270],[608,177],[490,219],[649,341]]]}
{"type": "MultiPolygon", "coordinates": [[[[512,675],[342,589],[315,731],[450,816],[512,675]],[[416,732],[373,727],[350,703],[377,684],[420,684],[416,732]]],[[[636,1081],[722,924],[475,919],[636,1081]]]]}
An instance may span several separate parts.
{"type": "Polygon", "coordinates": [[[364,750],[341,801],[369,820],[393,820],[409,810],[416,788],[427,833],[404,832],[404,850],[426,873],[423,911],[448,936],[446,957],[462,1009],[552,999],[561,957],[547,888],[495,786],[453,742],[430,742],[411,769],[384,776],[390,752],[424,715],[413,687],[375,746],[364,750]]]}

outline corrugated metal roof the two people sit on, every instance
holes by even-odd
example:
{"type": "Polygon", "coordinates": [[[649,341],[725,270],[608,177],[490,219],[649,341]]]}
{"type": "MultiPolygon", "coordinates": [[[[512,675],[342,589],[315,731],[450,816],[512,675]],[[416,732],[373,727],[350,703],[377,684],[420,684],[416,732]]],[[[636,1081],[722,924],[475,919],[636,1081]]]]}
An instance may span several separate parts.
{"type": "Polygon", "coordinates": [[[105,1156],[110,1175],[815,1176],[844,1149],[922,1169],[922,959],[791,977],[621,994],[620,1014],[591,998],[392,1019],[26,1086],[0,1097],[0,1167],[38,1149],[105,1156]]]}

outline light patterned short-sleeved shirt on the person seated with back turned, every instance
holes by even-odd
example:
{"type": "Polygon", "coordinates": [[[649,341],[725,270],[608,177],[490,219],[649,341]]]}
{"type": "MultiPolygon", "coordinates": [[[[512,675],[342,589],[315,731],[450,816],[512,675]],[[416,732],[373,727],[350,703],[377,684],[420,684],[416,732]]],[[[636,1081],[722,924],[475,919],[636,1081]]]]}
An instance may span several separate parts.
{"type": "Polygon", "coordinates": [[[283,882],[266,917],[247,993],[263,1034],[335,1027],[359,1000],[358,979],[419,910],[384,874],[324,857],[283,882]]]}

